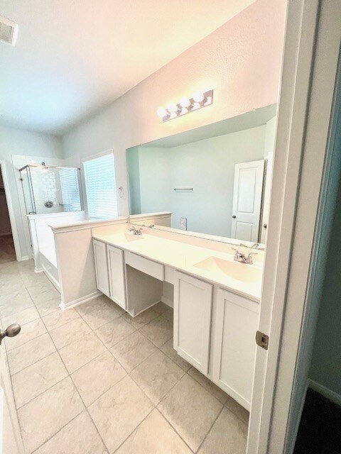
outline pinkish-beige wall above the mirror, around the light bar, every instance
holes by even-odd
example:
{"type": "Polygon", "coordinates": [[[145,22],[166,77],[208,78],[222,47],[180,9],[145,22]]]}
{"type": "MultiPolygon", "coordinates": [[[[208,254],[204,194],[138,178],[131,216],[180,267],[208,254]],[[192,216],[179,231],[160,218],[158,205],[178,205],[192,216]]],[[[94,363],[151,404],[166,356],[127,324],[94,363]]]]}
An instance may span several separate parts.
{"type": "Polygon", "coordinates": [[[65,134],[67,165],[80,165],[82,157],[113,148],[117,185],[125,190],[119,199],[119,214],[128,214],[126,148],[276,103],[285,16],[285,0],[251,4],[107,109],[65,134]],[[197,89],[215,90],[212,106],[167,123],[156,116],[158,106],[167,106],[197,89]]]}

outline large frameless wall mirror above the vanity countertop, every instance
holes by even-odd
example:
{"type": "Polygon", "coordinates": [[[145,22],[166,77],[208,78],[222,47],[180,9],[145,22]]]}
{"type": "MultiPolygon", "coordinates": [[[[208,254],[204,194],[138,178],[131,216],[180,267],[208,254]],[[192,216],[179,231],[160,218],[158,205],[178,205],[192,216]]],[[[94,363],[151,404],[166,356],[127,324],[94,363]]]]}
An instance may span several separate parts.
{"type": "Polygon", "coordinates": [[[176,231],[265,243],[275,129],[271,105],[130,148],[130,214],[166,211],[176,231]]]}

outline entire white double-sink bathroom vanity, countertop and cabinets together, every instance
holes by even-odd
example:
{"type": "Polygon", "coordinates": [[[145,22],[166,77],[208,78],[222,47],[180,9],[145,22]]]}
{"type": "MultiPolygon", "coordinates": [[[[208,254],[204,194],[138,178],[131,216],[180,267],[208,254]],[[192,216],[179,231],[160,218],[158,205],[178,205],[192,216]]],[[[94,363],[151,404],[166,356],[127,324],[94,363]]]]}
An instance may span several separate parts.
{"type": "Polygon", "coordinates": [[[172,284],[178,355],[249,410],[261,260],[247,265],[227,243],[129,227],[93,233],[97,288],[134,317],[161,301],[163,282],[172,284]]]}

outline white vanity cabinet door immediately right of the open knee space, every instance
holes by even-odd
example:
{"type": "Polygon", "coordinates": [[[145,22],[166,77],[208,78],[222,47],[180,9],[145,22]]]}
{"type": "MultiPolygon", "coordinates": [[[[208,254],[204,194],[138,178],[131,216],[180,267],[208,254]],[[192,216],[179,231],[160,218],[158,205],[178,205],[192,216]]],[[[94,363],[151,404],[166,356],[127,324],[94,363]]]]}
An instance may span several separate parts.
{"type": "Polygon", "coordinates": [[[203,374],[208,373],[212,284],[175,272],[174,348],[203,374]]]}

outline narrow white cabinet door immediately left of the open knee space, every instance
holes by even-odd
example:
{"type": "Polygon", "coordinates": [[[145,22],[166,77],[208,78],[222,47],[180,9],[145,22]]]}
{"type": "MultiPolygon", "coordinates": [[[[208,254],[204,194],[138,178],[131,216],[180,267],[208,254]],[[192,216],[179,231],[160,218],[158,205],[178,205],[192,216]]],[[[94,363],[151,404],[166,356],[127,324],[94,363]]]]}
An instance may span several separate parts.
{"type": "Polygon", "coordinates": [[[126,289],[124,284],[123,250],[107,246],[110,298],[126,309],[126,289]]]}

